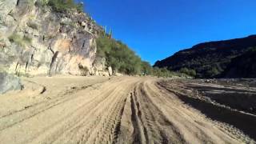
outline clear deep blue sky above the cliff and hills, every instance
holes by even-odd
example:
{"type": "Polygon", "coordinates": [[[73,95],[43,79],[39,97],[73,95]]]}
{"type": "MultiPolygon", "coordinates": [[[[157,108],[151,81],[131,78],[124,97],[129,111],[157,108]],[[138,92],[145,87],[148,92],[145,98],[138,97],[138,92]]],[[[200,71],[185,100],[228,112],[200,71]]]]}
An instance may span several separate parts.
{"type": "Polygon", "coordinates": [[[83,0],[86,12],[154,64],[199,42],[256,34],[256,0],[83,0]]]}

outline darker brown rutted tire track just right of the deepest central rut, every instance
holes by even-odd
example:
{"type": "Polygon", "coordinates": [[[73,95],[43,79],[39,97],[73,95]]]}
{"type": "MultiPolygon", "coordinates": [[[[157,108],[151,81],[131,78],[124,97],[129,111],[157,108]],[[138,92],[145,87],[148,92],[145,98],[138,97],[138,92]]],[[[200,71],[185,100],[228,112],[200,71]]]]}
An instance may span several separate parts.
{"type": "Polygon", "coordinates": [[[150,99],[150,93],[146,89],[146,83],[142,82],[137,87],[136,95],[141,102],[142,124],[147,131],[147,143],[184,143],[181,134],[176,127],[162,114],[161,110],[150,99]]]}

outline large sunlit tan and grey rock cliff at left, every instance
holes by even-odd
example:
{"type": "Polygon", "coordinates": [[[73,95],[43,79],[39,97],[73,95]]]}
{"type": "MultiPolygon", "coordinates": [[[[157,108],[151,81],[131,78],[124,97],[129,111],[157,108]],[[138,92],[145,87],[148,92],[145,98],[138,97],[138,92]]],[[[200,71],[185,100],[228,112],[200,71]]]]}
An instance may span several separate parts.
{"type": "Polygon", "coordinates": [[[32,76],[93,73],[101,30],[84,13],[57,13],[37,0],[2,0],[0,68],[32,76]]]}

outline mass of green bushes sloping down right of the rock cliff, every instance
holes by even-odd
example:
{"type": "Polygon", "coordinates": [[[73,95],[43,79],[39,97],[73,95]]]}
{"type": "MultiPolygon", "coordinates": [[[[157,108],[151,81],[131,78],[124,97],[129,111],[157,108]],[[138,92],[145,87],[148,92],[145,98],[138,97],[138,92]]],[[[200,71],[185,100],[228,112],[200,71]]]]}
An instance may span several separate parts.
{"type": "Polygon", "coordinates": [[[178,73],[171,72],[166,68],[153,68],[149,62],[143,62],[141,58],[130,50],[128,46],[120,41],[110,39],[109,36],[102,34],[97,39],[97,56],[106,58],[106,63],[111,66],[114,72],[130,75],[151,75],[158,77],[172,77],[178,73]]]}

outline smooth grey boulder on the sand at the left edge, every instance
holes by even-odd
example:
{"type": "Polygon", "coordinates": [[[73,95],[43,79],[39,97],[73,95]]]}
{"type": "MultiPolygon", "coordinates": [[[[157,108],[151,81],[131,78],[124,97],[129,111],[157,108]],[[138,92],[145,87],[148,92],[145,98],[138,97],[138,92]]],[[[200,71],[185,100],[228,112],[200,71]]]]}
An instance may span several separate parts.
{"type": "Polygon", "coordinates": [[[19,78],[14,74],[0,72],[0,94],[4,94],[9,90],[21,90],[22,85],[19,78]]]}

